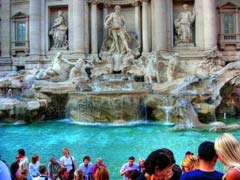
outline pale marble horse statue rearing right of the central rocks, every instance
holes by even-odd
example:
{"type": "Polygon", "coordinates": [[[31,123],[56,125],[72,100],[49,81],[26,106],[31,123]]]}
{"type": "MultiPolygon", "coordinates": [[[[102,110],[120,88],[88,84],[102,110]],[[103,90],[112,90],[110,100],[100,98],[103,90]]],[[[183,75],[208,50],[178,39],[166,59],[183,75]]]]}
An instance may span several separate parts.
{"type": "Polygon", "coordinates": [[[156,78],[157,82],[160,83],[158,60],[156,55],[154,54],[148,56],[147,63],[145,62],[144,68],[144,81],[152,84],[152,78],[156,78]]]}

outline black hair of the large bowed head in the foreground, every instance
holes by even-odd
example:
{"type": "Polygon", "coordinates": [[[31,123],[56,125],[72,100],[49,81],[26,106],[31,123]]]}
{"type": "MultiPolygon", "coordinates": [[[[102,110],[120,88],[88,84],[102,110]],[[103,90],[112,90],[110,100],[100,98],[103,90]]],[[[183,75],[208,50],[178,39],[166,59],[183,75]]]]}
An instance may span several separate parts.
{"type": "Polygon", "coordinates": [[[162,148],[151,152],[144,166],[148,174],[153,174],[156,167],[163,170],[172,164],[175,164],[173,152],[167,148],[162,148]]]}

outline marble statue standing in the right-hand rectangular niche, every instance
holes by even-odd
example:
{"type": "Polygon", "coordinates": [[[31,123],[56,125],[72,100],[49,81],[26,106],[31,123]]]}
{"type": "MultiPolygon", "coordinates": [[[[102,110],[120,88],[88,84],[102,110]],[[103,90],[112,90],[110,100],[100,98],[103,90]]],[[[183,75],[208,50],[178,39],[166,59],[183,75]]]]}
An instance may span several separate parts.
{"type": "Polygon", "coordinates": [[[188,4],[183,5],[183,11],[180,12],[175,19],[176,44],[191,44],[192,39],[192,23],[195,20],[195,10],[190,11],[188,4]]]}

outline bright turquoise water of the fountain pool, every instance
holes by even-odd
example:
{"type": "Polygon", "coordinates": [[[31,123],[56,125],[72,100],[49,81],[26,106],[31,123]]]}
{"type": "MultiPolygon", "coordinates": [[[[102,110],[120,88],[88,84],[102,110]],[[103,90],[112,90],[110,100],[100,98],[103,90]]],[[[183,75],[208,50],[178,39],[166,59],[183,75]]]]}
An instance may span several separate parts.
{"type": "MultiPolygon", "coordinates": [[[[231,131],[238,140],[240,130],[231,131]]],[[[69,147],[79,165],[84,155],[92,162],[102,157],[110,177],[122,179],[120,167],[129,156],[146,157],[151,151],[166,147],[171,149],[178,164],[186,151],[197,154],[198,145],[205,140],[214,141],[221,133],[209,131],[172,131],[162,124],[136,122],[126,125],[74,124],[69,121],[46,121],[32,124],[1,124],[0,155],[11,164],[16,151],[24,148],[29,159],[40,156],[41,163],[48,163],[51,155],[62,156],[61,149],[69,147]]],[[[218,170],[223,170],[220,163],[218,170]]]]}

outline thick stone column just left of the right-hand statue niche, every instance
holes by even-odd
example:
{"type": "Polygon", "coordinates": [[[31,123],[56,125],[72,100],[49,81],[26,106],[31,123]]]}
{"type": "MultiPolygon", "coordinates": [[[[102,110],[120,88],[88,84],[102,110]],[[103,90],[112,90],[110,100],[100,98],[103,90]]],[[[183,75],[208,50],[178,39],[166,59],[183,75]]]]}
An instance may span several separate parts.
{"type": "Polygon", "coordinates": [[[168,50],[168,35],[167,35],[167,1],[166,0],[153,0],[153,14],[155,16],[153,23],[154,34],[152,39],[155,39],[155,50],[166,51],[168,50]]]}

